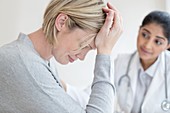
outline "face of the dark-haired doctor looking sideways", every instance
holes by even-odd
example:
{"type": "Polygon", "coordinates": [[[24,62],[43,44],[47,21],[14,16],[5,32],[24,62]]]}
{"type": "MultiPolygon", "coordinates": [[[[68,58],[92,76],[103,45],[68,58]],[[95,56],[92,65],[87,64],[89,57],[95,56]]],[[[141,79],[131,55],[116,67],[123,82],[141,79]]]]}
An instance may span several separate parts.
{"type": "Polygon", "coordinates": [[[137,49],[142,62],[154,63],[158,55],[168,49],[168,40],[163,34],[163,28],[150,23],[140,28],[137,49]]]}

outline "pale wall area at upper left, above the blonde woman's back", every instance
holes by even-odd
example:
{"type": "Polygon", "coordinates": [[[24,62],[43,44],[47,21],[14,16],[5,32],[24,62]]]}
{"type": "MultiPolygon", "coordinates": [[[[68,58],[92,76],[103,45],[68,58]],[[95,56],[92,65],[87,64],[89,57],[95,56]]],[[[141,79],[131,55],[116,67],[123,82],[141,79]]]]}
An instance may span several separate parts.
{"type": "Polygon", "coordinates": [[[41,26],[50,0],[0,0],[0,46],[41,26]]]}

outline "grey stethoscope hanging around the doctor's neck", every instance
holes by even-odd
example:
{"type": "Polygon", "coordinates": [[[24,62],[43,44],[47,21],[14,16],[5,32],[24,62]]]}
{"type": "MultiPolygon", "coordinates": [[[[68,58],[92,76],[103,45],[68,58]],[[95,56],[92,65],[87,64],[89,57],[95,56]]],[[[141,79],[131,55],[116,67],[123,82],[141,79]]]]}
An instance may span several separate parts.
{"type": "MultiPolygon", "coordinates": [[[[120,77],[119,82],[118,82],[118,86],[120,86],[122,79],[126,78],[127,81],[128,81],[127,86],[128,86],[128,88],[130,88],[131,79],[130,79],[130,76],[128,75],[128,73],[129,73],[129,69],[130,69],[132,59],[135,56],[135,54],[136,54],[136,52],[133,53],[132,56],[130,57],[129,62],[128,62],[128,67],[127,67],[127,70],[126,70],[126,74],[120,77]]],[[[161,103],[161,109],[163,111],[167,112],[167,111],[170,111],[170,101],[168,100],[168,80],[167,80],[166,55],[165,55],[165,74],[164,74],[164,77],[165,77],[165,100],[163,100],[162,103],[161,103]]]]}

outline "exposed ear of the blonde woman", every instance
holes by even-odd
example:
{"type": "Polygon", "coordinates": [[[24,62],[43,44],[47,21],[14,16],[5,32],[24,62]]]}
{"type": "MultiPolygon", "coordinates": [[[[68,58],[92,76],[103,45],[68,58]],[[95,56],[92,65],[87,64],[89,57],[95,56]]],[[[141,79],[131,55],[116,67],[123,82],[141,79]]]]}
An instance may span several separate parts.
{"type": "Polygon", "coordinates": [[[68,19],[68,16],[66,14],[60,13],[58,14],[56,20],[55,20],[55,27],[58,31],[61,31],[63,28],[66,27],[66,21],[68,19]]]}

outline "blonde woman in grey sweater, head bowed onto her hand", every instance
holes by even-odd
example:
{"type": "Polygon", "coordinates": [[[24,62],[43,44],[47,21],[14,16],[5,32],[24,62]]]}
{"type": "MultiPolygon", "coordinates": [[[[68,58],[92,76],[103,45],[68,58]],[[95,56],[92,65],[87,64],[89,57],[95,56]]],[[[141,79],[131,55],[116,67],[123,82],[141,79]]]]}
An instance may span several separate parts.
{"type": "Polygon", "coordinates": [[[0,112],[112,113],[110,54],[122,23],[118,12],[107,6],[102,0],[52,0],[42,28],[21,33],[1,47],[0,112]],[[65,93],[50,59],[65,65],[84,60],[93,49],[97,55],[92,93],[83,109],[65,93]]]}

